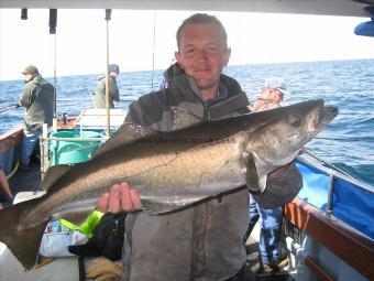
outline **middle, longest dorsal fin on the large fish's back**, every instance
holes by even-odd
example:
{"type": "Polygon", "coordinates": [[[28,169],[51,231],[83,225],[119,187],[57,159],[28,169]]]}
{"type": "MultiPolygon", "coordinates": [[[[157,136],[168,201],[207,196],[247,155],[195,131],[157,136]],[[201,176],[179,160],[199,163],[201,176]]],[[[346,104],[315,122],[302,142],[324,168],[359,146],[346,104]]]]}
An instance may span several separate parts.
{"type": "Polygon", "coordinates": [[[135,140],[140,140],[155,133],[157,133],[156,130],[147,127],[130,122],[123,123],[109,140],[99,145],[99,148],[95,151],[92,159],[102,155],[103,153],[116,148],[122,147],[124,144],[134,142],[135,140]]]}

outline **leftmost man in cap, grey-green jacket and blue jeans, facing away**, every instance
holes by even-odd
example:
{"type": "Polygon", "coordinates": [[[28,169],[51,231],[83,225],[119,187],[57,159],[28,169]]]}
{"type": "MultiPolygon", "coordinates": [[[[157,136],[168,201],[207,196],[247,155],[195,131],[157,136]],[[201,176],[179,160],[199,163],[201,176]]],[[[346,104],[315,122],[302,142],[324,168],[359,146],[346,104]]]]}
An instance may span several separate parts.
{"type": "Polygon", "coordinates": [[[22,139],[21,169],[29,169],[43,123],[52,126],[54,87],[42,77],[34,65],[29,65],[22,74],[25,77],[23,95],[18,105],[26,109],[22,139]]]}

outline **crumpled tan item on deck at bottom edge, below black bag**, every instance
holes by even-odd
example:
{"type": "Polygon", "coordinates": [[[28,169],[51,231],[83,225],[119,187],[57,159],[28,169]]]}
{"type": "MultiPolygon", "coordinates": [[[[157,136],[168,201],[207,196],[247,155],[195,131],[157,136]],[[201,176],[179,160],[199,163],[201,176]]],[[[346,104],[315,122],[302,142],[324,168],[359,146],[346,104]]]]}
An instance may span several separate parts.
{"type": "Polygon", "coordinates": [[[111,261],[106,258],[94,259],[86,270],[86,278],[92,278],[95,281],[120,280],[122,263],[111,261]]]}

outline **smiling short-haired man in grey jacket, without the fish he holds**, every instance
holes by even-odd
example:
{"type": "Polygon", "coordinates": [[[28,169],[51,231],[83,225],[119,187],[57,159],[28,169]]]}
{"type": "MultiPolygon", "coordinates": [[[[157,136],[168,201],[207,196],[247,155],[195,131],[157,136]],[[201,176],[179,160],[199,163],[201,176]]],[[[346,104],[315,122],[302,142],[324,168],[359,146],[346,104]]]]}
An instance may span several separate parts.
{"type": "MultiPolygon", "coordinates": [[[[163,91],[141,97],[125,121],[170,130],[170,107],[182,107],[205,120],[249,112],[245,93],[222,75],[230,58],[221,22],[194,14],[177,31],[175,53],[182,72],[163,91]]],[[[268,184],[299,184],[294,165],[271,175],[268,184]]],[[[123,280],[239,280],[246,255],[242,244],[248,226],[248,192],[231,193],[163,216],[148,216],[135,190],[114,184],[98,203],[101,210],[131,212],[125,221],[123,280]]]]}

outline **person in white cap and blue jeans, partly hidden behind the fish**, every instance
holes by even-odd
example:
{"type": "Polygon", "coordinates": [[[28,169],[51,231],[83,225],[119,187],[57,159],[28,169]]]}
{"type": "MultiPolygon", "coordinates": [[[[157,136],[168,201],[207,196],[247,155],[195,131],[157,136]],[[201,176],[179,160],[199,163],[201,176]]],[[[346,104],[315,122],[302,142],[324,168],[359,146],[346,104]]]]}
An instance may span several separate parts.
{"type": "MultiPolygon", "coordinates": [[[[287,85],[280,77],[271,77],[265,79],[264,87],[257,100],[251,108],[253,111],[268,110],[279,106],[284,98],[288,95],[287,85]]],[[[283,221],[283,207],[266,209],[256,203],[250,195],[250,223],[244,236],[244,242],[251,235],[252,229],[260,218],[260,258],[261,267],[258,273],[271,273],[282,270],[288,264],[287,259],[282,258],[279,241],[283,221]]]]}

